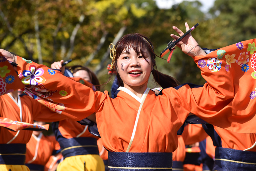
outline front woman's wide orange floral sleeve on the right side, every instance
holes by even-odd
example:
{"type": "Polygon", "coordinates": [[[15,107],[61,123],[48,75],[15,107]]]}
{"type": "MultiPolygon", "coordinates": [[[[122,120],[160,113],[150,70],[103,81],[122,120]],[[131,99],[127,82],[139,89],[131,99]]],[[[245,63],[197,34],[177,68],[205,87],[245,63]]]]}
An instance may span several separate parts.
{"type": "MultiPolygon", "coordinates": [[[[207,83],[162,90],[174,102],[212,125],[256,132],[256,39],[223,47],[194,60],[207,83]]],[[[174,106],[175,107],[175,106],[174,106]]]]}

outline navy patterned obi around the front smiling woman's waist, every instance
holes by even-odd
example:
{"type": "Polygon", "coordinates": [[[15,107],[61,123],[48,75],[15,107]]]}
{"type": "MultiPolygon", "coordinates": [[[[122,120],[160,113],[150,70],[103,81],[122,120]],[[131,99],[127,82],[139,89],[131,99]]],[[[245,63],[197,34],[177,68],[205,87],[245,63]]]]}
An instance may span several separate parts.
{"type": "Polygon", "coordinates": [[[172,171],[172,153],[109,152],[109,171],[172,171]]]}

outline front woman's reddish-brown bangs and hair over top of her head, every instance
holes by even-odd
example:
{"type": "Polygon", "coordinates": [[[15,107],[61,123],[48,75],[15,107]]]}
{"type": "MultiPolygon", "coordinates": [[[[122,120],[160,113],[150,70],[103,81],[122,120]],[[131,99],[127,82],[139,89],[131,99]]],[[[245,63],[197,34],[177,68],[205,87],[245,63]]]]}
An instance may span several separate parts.
{"type": "Polygon", "coordinates": [[[137,53],[138,56],[141,53],[143,58],[152,57],[153,50],[151,50],[151,48],[153,49],[153,47],[151,47],[152,45],[149,44],[149,42],[147,42],[145,39],[141,34],[138,33],[125,35],[117,45],[117,59],[120,57],[121,53],[124,52],[124,50],[126,53],[129,53],[131,48],[137,53]],[[149,52],[150,56],[148,56],[147,52],[149,52]]]}

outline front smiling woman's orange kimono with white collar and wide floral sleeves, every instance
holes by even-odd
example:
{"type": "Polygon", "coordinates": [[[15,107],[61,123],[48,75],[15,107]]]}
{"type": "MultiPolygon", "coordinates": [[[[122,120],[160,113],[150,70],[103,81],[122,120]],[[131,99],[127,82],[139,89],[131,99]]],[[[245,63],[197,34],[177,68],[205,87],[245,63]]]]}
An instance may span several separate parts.
{"type": "MultiPolygon", "coordinates": [[[[203,87],[183,84],[163,89],[157,96],[147,88],[141,99],[124,87],[120,87],[117,97],[112,99],[108,92],[94,92],[58,71],[52,75],[46,66],[34,62],[27,64],[20,57],[17,69],[22,73],[27,93],[53,111],[75,121],[95,112],[103,145],[110,152],[171,153],[177,149],[176,133],[189,113],[225,129],[256,132],[256,56],[252,48],[255,42],[255,39],[240,42],[242,50],[234,44],[223,47],[223,53],[215,51],[194,57],[207,81],[203,87]],[[247,64],[241,68],[244,58],[243,64],[247,64]],[[34,92],[39,85],[49,92],[54,91],[50,100],[34,92]],[[29,86],[35,87],[33,91],[29,86]]],[[[109,157],[115,154],[109,153],[109,157]]],[[[109,168],[118,167],[117,163],[112,164],[109,168]]],[[[170,168],[169,165],[165,167],[170,168]]]]}

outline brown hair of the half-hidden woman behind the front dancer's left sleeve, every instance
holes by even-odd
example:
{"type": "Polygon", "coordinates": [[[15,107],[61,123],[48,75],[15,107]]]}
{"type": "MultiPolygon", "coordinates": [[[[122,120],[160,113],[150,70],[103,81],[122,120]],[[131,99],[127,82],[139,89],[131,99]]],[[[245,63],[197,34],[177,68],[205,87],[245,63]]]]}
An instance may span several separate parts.
{"type": "Polygon", "coordinates": [[[87,71],[89,73],[91,83],[96,87],[96,90],[97,91],[101,90],[99,80],[98,80],[97,76],[95,75],[95,73],[93,71],[91,71],[91,69],[84,67],[82,65],[74,65],[74,66],[69,67],[68,69],[72,72],[72,74],[78,72],[79,70],[87,71]]]}

